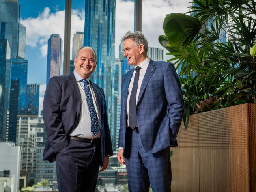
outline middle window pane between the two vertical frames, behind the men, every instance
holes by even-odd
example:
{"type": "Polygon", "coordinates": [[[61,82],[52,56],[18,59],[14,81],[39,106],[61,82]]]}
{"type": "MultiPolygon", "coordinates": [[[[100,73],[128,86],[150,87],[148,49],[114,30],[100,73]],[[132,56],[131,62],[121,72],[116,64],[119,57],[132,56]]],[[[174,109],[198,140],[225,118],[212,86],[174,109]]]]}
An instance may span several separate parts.
{"type": "MultiPolygon", "coordinates": [[[[105,92],[114,154],[118,149],[121,76],[130,69],[120,43],[125,32],[133,31],[133,20],[133,1],[72,1],[70,73],[75,68],[73,63],[78,48],[92,47],[97,54],[97,67],[90,79],[105,92]]],[[[99,173],[97,185],[104,188],[105,183],[114,183],[116,188],[116,185],[127,183],[126,171],[118,179],[120,167],[116,157],[111,157],[108,171],[99,173]]]]}

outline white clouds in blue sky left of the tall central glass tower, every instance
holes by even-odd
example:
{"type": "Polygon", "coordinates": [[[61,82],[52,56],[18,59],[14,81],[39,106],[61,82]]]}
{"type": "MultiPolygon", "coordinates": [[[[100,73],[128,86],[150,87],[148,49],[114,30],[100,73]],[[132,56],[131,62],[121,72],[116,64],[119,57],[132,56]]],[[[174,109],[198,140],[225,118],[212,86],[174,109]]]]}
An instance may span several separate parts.
{"type": "MultiPolygon", "coordinates": [[[[26,44],[38,47],[43,57],[47,56],[47,41],[51,34],[59,34],[62,41],[64,41],[65,11],[57,10],[55,13],[50,11],[49,7],[45,7],[38,17],[21,19],[21,23],[26,26],[26,44]]],[[[76,31],[84,31],[84,11],[72,10],[71,49],[73,34],[76,31]]]]}

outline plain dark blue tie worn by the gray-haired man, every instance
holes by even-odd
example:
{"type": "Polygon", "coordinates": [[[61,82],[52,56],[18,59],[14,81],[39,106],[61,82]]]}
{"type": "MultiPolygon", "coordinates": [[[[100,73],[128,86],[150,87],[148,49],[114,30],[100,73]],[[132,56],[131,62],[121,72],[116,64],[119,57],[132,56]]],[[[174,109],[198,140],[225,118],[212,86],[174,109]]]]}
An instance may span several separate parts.
{"type": "MultiPolygon", "coordinates": [[[[134,129],[137,125],[137,114],[136,114],[136,95],[137,95],[137,89],[138,89],[138,80],[140,75],[140,67],[135,68],[135,75],[134,75],[134,81],[133,81],[133,89],[131,91],[130,95],[130,101],[129,101],[129,126],[134,129]]],[[[139,91],[138,91],[139,92],[139,91]]]]}

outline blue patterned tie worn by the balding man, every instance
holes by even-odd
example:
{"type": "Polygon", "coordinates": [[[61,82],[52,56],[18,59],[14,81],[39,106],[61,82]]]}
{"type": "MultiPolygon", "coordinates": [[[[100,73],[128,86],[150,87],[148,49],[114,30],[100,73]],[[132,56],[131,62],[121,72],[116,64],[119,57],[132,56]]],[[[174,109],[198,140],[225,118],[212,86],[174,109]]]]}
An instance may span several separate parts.
{"type": "Polygon", "coordinates": [[[84,82],[84,92],[91,117],[91,132],[94,136],[96,136],[99,133],[99,121],[92,101],[92,94],[88,86],[89,82],[86,79],[82,79],[82,82],[84,82]]]}

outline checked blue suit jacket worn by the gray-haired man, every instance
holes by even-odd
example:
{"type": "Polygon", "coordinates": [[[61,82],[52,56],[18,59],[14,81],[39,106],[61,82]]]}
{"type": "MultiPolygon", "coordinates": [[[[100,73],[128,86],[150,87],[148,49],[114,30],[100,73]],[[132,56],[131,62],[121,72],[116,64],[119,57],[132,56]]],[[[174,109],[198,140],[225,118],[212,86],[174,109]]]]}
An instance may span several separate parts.
{"type": "MultiPolygon", "coordinates": [[[[131,69],[123,75],[119,147],[125,155],[127,95],[133,75],[131,69]]],[[[144,149],[156,153],[169,146],[178,146],[176,137],[183,117],[184,101],[179,77],[169,62],[150,60],[137,102],[137,124],[144,149]]]]}

